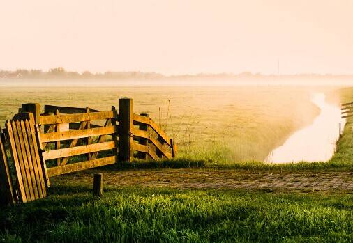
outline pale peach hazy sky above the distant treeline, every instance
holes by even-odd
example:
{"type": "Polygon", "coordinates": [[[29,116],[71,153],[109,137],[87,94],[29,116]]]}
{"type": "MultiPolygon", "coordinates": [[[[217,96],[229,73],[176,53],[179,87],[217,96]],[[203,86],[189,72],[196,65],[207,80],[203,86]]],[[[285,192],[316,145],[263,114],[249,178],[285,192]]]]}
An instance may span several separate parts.
{"type": "Polygon", "coordinates": [[[2,0],[0,69],[353,73],[352,0],[2,0]]]}

